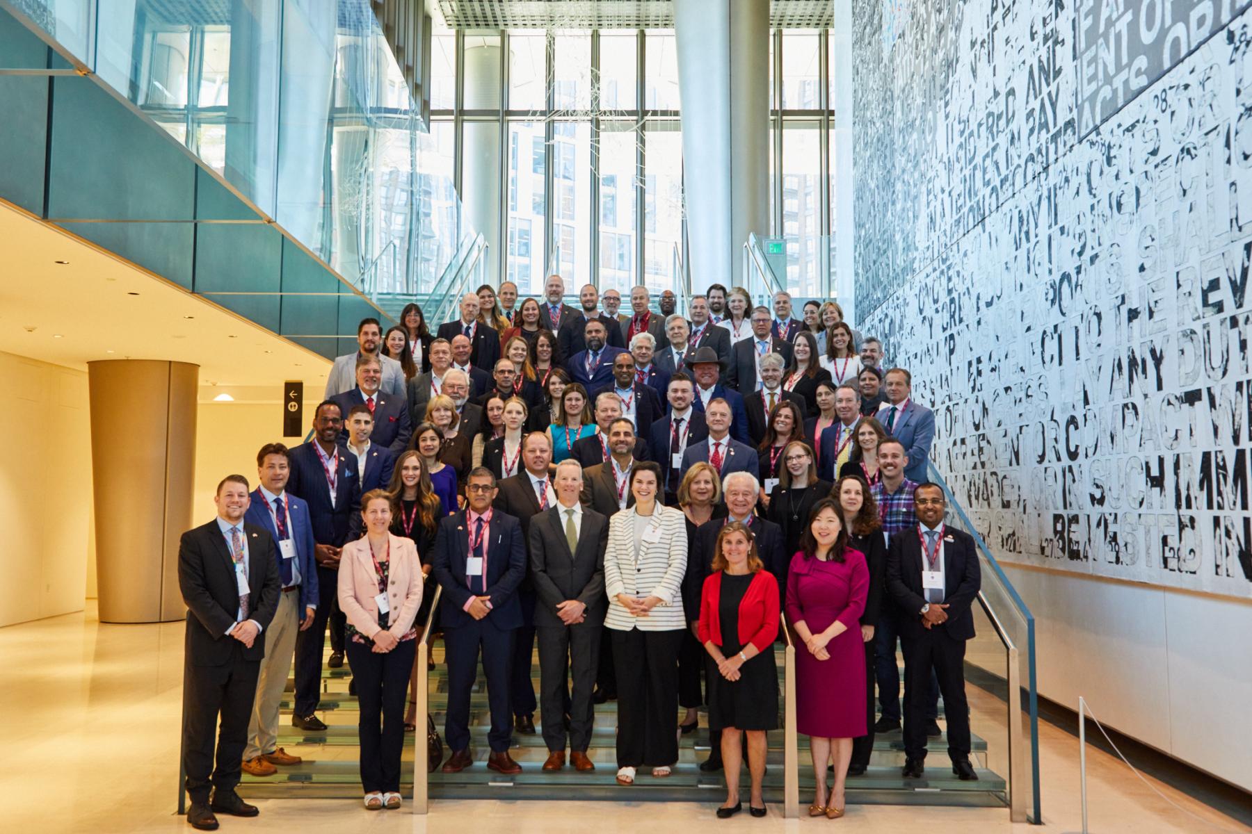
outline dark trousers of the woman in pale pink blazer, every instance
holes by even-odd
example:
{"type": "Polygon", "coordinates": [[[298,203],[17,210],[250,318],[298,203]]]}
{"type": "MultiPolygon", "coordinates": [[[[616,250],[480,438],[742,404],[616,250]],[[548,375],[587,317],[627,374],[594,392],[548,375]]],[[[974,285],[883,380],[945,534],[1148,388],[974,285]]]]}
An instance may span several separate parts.
{"type": "Polygon", "coordinates": [[[366,793],[399,793],[399,755],[404,748],[404,699],[417,640],[376,654],[363,643],[347,644],[361,713],[361,786],[366,793]]]}

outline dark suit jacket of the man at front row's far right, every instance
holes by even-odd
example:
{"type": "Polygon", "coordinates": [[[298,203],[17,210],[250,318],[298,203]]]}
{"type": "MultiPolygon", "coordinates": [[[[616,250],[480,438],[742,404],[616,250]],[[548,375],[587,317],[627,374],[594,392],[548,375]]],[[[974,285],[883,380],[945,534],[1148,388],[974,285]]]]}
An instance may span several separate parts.
{"type": "MultiPolygon", "coordinates": [[[[891,544],[886,549],[886,591],[901,609],[901,638],[920,636],[925,631],[919,614],[926,601],[921,589],[923,556],[919,529],[920,525],[893,535],[891,544]]],[[[943,569],[943,601],[948,605],[948,620],[930,626],[930,630],[938,630],[954,640],[973,639],[974,615],[969,609],[983,581],[974,536],[964,530],[944,528],[943,569]]]]}

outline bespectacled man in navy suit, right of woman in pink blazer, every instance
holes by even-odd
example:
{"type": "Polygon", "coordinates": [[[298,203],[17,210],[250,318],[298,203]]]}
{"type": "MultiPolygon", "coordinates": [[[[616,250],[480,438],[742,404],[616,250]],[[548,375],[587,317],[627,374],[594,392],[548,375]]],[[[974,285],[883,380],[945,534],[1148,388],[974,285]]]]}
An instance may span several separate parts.
{"type": "Polygon", "coordinates": [[[491,755],[487,768],[503,774],[521,773],[508,755],[508,665],[515,631],[522,625],[517,586],[526,576],[526,543],[517,519],[492,509],[496,476],[478,466],[466,483],[468,506],[439,521],[432,570],[443,589],[439,623],[448,665],[448,706],[443,725],[452,755],[443,773],[459,773],[471,764],[470,690],[478,674],[482,653],[487,676],[491,755]]]}

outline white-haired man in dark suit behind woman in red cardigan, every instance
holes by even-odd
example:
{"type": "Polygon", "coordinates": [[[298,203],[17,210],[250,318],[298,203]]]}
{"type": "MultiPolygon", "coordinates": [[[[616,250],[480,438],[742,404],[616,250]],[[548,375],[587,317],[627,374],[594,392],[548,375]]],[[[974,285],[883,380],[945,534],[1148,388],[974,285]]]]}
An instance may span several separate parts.
{"type": "MultiPolygon", "coordinates": [[[[692,551],[687,554],[687,570],[682,578],[682,606],[690,611],[687,619],[695,625],[700,619],[700,593],[704,580],[712,573],[712,556],[717,549],[717,533],[731,521],[742,521],[752,531],[756,553],[765,569],[774,574],[779,588],[786,590],[786,573],[791,564],[789,554],[782,549],[782,530],[772,521],[766,521],[754,514],[760,498],[760,481],[756,475],[736,471],[726,476],[722,499],[726,503],[726,518],[705,521],[696,529],[692,551]]],[[[700,763],[705,773],[721,770],[721,731],[709,734],[711,750],[709,758],[700,763]]]]}

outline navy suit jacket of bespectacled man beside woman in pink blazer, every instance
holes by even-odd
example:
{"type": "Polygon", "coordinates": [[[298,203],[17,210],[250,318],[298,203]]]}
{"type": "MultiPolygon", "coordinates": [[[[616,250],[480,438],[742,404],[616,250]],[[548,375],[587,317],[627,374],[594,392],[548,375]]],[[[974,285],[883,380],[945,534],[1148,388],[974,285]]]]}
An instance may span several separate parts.
{"type": "MultiPolygon", "coordinates": [[[[470,590],[466,576],[466,559],[470,558],[470,514],[462,510],[439,520],[434,536],[434,556],[431,573],[443,589],[439,623],[443,628],[456,628],[473,623],[466,613],[466,603],[477,594],[470,590]]],[[[517,601],[517,586],[526,576],[526,540],[522,525],[512,515],[492,510],[491,536],[487,541],[487,596],[491,613],[487,615],[497,629],[521,628],[522,606],[517,601]]]]}

